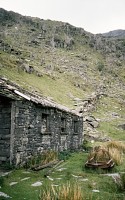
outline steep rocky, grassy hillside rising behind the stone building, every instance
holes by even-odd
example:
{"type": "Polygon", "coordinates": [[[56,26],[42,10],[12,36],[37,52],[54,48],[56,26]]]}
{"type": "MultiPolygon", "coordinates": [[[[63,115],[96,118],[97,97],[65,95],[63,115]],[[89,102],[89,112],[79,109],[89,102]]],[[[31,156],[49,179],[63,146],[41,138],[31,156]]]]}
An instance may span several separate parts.
{"type": "Polygon", "coordinates": [[[83,113],[92,138],[123,138],[125,37],[0,9],[0,75],[83,113]]]}

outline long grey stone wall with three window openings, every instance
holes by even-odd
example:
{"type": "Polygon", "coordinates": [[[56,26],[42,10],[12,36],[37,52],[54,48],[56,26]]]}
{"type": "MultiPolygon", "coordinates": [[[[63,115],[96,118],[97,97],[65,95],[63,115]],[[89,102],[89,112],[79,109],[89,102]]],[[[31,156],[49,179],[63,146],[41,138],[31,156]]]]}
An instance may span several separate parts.
{"type": "Polygon", "coordinates": [[[13,102],[13,114],[11,162],[19,164],[43,149],[77,149],[82,142],[83,119],[80,117],[27,100],[13,102]],[[77,132],[74,132],[74,122],[78,123],[77,132]]]}

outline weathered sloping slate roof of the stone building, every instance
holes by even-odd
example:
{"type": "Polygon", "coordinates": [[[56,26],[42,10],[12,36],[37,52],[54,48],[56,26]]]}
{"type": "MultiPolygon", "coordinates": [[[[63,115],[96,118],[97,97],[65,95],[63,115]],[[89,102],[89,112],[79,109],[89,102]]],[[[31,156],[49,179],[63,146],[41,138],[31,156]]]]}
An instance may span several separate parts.
{"type": "Polygon", "coordinates": [[[63,105],[57,104],[54,101],[47,99],[46,97],[43,97],[39,94],[33,94],[27,90],[22,89],[19,85],[10,82],[6,78],[0,78],[0,95],[13,100],[27,99],[28,101],[34,102],[35,104],[41,104],[45,107],[57,108],[61,111],[81,116],[76,111],[72,111],[63,105]]]}

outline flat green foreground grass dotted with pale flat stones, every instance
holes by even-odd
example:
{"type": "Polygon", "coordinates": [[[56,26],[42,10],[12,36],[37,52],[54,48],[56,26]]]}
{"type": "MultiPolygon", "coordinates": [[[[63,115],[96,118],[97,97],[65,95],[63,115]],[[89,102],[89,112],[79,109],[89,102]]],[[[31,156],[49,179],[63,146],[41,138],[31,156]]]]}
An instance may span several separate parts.
{"type": "MultiPolygon", "coordinates": [[[[84,164],[87,156],[88,154],[84,152],[72,153],[68,160],[49,175],[51,180],[44,177],[46,170],[39,172],[24,169],[13,170],[4,177],[4,183],[0,191],[8,194],[13,200],[38,200],[40,193],[46,189],[49,190],[52,185],[56,188],[70,182],[71,184],[77,183],[81,187],[84,199],[124,200],[125,191],[120,190],[112,177],[105,175],[108,173],[107,171],[85,169],[84,164]],[[28,179],[23,180],[24,178],[28,179]],[[42,186],[31,186],[38,181],[42,182],[42,186]],[[17,184],[10,186],[12,182],[17,182],[17,184]]],[[[115,166],[112,173],[123,172],[124,169],[125,162],[120,167],[115,166]]],[[[0,197],[0,199],[4,198],[0,197]]]]}

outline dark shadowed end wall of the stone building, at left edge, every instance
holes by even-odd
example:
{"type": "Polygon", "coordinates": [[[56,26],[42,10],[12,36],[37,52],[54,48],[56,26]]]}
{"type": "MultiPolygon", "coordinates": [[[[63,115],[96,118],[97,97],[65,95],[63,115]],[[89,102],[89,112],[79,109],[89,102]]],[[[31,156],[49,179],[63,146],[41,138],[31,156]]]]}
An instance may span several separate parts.
{"type": "Polygon", "coordinates": [[[0,164],[10,158],[11,103],[0,96],[0,164]]]}

